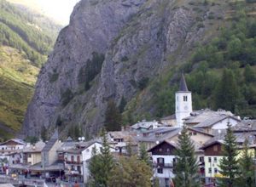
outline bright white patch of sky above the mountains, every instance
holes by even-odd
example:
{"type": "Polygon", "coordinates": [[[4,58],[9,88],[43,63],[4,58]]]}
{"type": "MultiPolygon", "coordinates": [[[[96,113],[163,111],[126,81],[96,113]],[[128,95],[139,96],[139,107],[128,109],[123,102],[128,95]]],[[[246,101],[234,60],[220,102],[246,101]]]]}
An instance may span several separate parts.
{"type": "Polygon", "coordinates": [[[73,7],[80,0],[8,0],[10,3],[20,3],[36,9],[45,14],[63,26],[69,22],[73,7]]]}

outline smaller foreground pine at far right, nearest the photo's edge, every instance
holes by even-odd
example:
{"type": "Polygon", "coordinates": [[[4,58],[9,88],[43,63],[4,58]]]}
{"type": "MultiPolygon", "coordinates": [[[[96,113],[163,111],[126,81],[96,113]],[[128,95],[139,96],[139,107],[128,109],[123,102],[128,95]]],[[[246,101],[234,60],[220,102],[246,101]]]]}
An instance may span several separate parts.
{"type": "Polygon", "coordinates": [[[240,176],[239,184],[243,187],[253,187],[254,183],[254,168],[253,168],[253,154],[249,152],[248,140],[246,139],[244,147],[239,159],[240,176]]]}

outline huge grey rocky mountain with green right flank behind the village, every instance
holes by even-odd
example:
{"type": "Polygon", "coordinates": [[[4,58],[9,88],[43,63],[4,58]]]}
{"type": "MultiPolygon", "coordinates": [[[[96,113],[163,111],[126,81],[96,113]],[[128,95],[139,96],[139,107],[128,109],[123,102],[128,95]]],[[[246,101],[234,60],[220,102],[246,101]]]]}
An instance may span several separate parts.
{"type": "MultiPolygon", "coordinates": [[[[218,108],[225,67],[253,94],[255,82],[246,83],[242,72],[255,61],[238,59],[242,48],[248,48],[245,56],[255,52],[255,38],[247,34],[253,7],[221,0],[82,0],[40,71],[22,135],[38,136],[42,127],[65,135],[79,127],[90,138],[103,126],[110,99],[116,105],[125,100],[124,124],[170,115],[182,71],[195,91],[194,109],[218,108]],[[234,56],[233,39],[247,42],[234,56]]],[[[242,90],[236,96],[236,111],[255,107],[242,90]]]]}

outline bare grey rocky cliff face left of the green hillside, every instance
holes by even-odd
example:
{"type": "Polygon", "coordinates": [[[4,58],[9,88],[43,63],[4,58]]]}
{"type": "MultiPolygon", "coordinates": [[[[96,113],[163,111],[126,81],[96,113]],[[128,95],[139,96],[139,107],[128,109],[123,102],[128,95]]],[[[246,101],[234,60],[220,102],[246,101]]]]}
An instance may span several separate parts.
{"type": "Polygon", "coordinates": [[[73,125],[96,133],[108,99],[131,100],[200,36],[195,12],[177,2],[81,0],[40,71],[23,135],[73,125]]]}

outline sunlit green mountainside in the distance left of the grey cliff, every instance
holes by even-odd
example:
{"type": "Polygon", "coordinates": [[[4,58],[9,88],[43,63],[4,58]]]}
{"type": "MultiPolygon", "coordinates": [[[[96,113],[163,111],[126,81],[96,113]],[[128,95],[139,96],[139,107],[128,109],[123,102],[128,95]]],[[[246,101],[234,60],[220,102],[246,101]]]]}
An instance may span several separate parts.
{"type": "Polygon", "coordinates": [[[0,138],[20,131],[40,66],[60,29],[38,13],[0,0],[0,138]]]}

